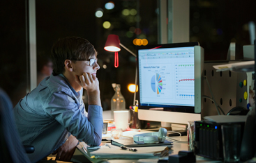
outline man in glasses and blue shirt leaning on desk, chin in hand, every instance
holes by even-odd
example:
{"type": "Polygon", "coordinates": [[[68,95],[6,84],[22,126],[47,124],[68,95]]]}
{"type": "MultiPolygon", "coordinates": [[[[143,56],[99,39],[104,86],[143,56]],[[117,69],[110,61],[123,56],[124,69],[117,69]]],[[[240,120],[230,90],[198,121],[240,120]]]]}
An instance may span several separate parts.
{"type": "Polygon", "coordinates": [[[37,162],[50,153],[57,160],[69,161],[78,140],[98,146],[103,129],[103,109],[96,72],[97,52],[80,37],[66,37],[52,47],[54,70],[14,108],[22,144],[32,145],[28,154],[37,162]],[[82,101],[88,94],[88,114],[82,101]],[[77,140],[78,139],[78,140],[77,140]]]}

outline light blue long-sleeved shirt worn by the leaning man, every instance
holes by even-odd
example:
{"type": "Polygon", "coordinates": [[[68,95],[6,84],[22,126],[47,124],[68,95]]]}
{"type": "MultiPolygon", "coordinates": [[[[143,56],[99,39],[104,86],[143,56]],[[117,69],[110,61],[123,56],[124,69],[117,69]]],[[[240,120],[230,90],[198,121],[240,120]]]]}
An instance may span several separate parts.
{"type": "Polygon", "coordinates": [[[82,92],[75,92],[60,74],[45,78],[13,109],[22,144],[32,145],[31,162],[50,155],[72,134],[90,146],[98,146],[103,130],[103,109],[84,109],[82,92]]]}

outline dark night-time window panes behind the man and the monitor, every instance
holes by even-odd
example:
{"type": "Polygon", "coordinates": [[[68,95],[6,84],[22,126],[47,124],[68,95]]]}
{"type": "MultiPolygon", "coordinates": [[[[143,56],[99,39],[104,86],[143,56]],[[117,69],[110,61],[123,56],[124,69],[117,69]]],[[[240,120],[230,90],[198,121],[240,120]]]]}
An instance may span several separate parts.
{"type": "MultiPolygon", "coordinates": [[[[103,109],[110,110],[114,95],[112,83],[121,84],[126,108],[133,104],[133,93],[127,86],[135,81],[135,58],[126,50],[119,52],[119,67],[114,68],[114,53],[103,49],[107,35],[119,35],[121,43],[135,52],[133,40],[146,38],[158,43],[158,1],[113,1],[112,10],[105,9],[109,1],[37,0],[37,55],[49,56],[52,44],[68,36],[84,37],[98,51],[101,100],[103,109]],[[135,9],[136,15],[123,15],[124,9],[135,9]],[[103,17],[96,17],[103,10],[103,17]],[[112,24],[103,28],[103,22],[112,24]],[[141,33],[136,33],[140,28],[141,33]],[[106,67],[105,69],[103,68],[106,67]]],[[[27,46],[27,1],[0,1],[0,87],[5,89],[13,105],[29,88],[29,58],[27,46]]],[[[198,41],[204,48],[205,60],[225,60],[230,42],[236,42],[236,59],[242,59],[242,46],[250,44],[248,23],[256,22],[256,1],[190,0],[190,42],[198,41]]],[[[40,62],[38,60],[38,62],[40,62]]],[[[36,78],[36,76],[35,76],[36,78]]]]}

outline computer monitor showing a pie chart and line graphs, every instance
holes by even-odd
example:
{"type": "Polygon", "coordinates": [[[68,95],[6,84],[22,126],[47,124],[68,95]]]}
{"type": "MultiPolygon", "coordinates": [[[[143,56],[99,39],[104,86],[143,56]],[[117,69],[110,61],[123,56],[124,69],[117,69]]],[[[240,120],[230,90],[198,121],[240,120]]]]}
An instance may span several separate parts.
{"type": "Polygon", "coordinates": [[[137,46],[140,120],[201,120],[204,49],[198,42],[137,46]]]}

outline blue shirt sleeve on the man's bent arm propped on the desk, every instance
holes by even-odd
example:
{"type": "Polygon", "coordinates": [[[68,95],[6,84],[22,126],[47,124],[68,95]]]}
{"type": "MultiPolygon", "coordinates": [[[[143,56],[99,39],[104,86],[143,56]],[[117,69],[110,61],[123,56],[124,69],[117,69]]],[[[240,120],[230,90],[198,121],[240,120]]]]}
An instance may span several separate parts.
{"type": "Polygon", "coordinates": [[[68,132],[89,146],[99,146],[103,130],[103,108],[89,105],[88,117],[84,103],[79,103],[65,92],[52,94],[45,103],[46,114],[56,119],[68,132]]]}

